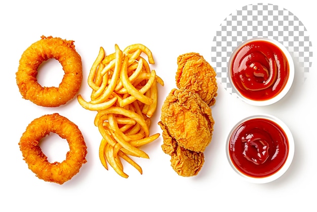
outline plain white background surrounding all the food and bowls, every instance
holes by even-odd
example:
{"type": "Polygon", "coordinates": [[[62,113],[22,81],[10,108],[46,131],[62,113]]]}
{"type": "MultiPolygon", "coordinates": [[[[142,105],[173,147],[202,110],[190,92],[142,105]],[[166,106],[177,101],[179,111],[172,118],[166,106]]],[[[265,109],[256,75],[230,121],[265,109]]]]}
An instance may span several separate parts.
{"type": "MultiPolygon", "coordinates": [[[[22,99],[15,81],[23,51],[42,35],[74,40],[83,61],[84,79],[79,91],[89,99],[89,69],[99,48],[114,52],[142,43],[153,53],[159,86],[159,109],[152,118],[151,134],[162,132],[162,103],[175,88],[177,57],[198,52],[211,62],[211,44],[221,22],[233,11],[254,1],[3,1],[0,3],[1,61],[1,154],[0,211],[316,211],[316,44],[315,7],[309,1],[272,1],[292,12],[305,25],[313,47],[312,67],[304,83],[294,81],[288,95],[273,105],[254,107],[233,98],[218,81],[218,97],[212,107],[215,119],[211,144],[205,151],[205,164],[197,176],[183,178],[170,166],[163,153],[162,137],[144,147],[150,159],[135,159],[141,175],[125,164],[128,179],[112,168],[105,170],[98,157],[101,136],[94,126],[95,112],[81,107],[76,98],[58,108],[43,108],[22,99]],[[5,2],[5,3],[4,3],[5,2]],[[88,146],[88,162],[63,185],[36,178],[19,150],[26,126],[45,114],[59,113],[82,130],[88,146]],[[268,184],[251,184],[237,176],[225,155],[225,142],[231,127],[243,118],[268,113],[283,120],[295,139],[295,155],[289,170],[268,184]],[[5,209],[6,208],[6,209],[5,209]]],[[[58,85],[63,72],[60,64],[43,64],[39,73],[44,85],[58,85]],[[55,68],[55,70],[54,70],[55,68]],[[52,69],[52,70],[51,70],[52,69]],[[51,71],[50,71],[51,70],[51,71]],[[44,71],[43,71],[44,72],[44,71]]],[[[54,138],[54,136],[52,136],[54,138]]],[[[45,143],[51,160],[63,160],[67,144],[45,143]]],[[[49,138],[48,140],[53,140],[49,138]]],[[[59,140],[59,142],[58,142],[59,140]]]]}

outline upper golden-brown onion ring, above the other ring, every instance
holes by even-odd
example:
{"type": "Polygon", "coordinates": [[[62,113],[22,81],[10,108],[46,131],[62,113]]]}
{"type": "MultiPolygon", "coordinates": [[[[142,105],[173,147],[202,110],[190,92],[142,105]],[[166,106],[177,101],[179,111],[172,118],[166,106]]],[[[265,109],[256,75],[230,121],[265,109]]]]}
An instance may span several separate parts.
{"type": "Polygon", "coordinates": [[[45,37],[33,43],[22,54],[16,81],[23,98],[43,107],[58,107],[72,99],[83,79],[82,58],[74,41],[45,37]],[[54,58],[63,66],[64,76],[59,87],[42,87],[36,79],[43,61],[54,58]]]}

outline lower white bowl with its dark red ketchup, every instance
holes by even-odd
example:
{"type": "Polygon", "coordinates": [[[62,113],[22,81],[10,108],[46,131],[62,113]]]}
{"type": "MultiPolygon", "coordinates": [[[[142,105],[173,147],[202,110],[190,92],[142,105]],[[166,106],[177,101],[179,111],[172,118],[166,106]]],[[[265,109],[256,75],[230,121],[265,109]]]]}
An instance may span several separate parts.
{"type": "Polygon", "coordinates": [[[251,183],[269,183],[282,176],[294,157],[290,129],[271,115],[250,116],[230,131],[226,155],[232,169],[251,183]]]}

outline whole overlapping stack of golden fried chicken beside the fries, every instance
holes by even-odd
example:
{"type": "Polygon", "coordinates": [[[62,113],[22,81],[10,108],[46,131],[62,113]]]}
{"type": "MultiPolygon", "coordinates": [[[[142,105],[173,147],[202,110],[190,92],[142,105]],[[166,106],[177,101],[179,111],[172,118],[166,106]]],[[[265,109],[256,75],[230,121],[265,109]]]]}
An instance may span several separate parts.
{"type": "Polygon", "coordinates": [[[160,127],[164,153],[181,176],[194,176],[205,162],[214,119],[211,106],[217,96],[216,72],[198,53],[177,58],[176,86],[163,103],[160,127]]]}

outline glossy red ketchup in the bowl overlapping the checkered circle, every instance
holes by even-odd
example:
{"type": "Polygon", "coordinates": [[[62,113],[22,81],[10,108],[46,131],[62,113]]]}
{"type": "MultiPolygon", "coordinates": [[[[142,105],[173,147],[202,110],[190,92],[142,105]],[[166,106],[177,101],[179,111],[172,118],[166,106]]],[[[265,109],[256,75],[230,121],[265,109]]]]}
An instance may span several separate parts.
{"type": "Polygon", "coordinates": [[[231,62],[231,80],[237,91],[252,100],[278,95],[289,78],[289,62],[283,51],[265,40],[242,46],[231,62]]]}

